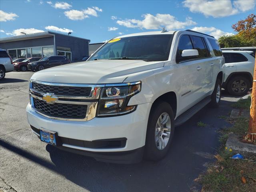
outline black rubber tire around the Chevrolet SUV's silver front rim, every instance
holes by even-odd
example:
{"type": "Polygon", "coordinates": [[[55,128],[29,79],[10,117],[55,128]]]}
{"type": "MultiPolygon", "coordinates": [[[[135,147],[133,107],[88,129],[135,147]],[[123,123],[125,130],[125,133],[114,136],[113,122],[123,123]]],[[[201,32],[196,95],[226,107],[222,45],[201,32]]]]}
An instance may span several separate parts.
{"type": "MultiPolygon", "coordinates": [[[[166,125],[164,127],[166,127],[166,125]]],[[[166,134],[166,131],[165,131],[165,134],[166,134]]],[[[170,104],[163,101],[153,104],[152,109],[150,111],[149,118],[148,118],[148,128],[147,128],[147,134],[146,134],[146,145],[145,145],[144,157],[148,160],[153,160],[153,161],[158,161],[164,158],[164,156],[166,156],[170,148],[170,143],[172,142],[173,135],[174,135],[174,113],[172,111],[172,107],[170,106],[170,104]],[[168,143],[165,145],[164,149],[160,150],[158,149],[159,144],[156,144],[155,142],[155,133],[156,133],[158,118],[163,113],[167,113],[169,115],[171,129],[170,129],[170,135],[169,135],[170,137],[169,137],[168,143]]]]}

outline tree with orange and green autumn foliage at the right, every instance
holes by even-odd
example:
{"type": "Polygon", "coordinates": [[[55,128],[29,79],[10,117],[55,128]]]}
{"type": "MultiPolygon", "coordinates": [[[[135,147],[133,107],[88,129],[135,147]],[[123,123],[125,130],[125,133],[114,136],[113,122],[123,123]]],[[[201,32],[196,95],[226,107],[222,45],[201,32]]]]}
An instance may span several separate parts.
{"type": "Polygon", "coordinates": [[[238,34],[221,36],[218,41],[221,48],[256,46],[256,15],[250,14],[245,20],[232,25],[238,34]]]}

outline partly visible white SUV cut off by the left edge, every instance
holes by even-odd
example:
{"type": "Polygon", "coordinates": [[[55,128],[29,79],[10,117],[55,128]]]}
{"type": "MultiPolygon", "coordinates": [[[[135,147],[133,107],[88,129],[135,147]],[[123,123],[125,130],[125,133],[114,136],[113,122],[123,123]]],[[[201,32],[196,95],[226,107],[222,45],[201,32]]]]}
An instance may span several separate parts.
{"type": "Polygon", "coordinates": [[[14,66],[12,64],[12,58],[4,49],[0,49],[0,80],[5,77],[7,72],[11,72],[14,70],[14,66]]]}

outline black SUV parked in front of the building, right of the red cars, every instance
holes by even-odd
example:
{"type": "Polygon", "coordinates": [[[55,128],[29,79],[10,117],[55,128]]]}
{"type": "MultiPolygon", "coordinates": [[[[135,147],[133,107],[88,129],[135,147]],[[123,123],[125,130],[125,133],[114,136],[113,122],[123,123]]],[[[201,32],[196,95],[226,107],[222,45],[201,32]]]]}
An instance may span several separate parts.
{"type": "Polygon", "coordinates": [[[65,56],[49,56],[43,57],[39,61],[30,62],[28,64],[28,70],[40,71],[46,68],[55,67],[70,63],[70,60],[65,56]]]}

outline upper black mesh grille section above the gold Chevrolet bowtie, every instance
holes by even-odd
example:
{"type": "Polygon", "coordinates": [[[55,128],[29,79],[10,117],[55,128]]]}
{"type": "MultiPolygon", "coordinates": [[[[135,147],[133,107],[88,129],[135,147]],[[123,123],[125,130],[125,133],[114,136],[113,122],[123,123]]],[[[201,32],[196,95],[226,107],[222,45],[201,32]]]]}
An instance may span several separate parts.
{"type": "Polygon", "coordinates": [[[61,96],[80,96],[88,97],[92,90],[91,87],[73,87],[73,86],[52,86],[46,84],[32,83],[32,87],[43,93],[53,93],[61,96]]]}

